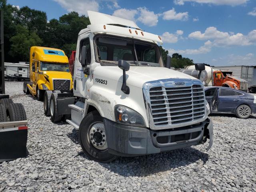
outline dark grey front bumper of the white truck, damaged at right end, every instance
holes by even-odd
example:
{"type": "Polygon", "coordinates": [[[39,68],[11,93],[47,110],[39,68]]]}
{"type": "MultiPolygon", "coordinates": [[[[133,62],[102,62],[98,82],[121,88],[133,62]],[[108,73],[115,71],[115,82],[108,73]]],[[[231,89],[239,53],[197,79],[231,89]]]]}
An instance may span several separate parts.
{"type": "Polygon", "coordinates": [[[207,118],[200,124],[153,131],[148,128],[132,127],[104,119],[108,152],[118,156],[139,156],[175,150],[198,144],[210,139],[213,142],[212,120],[207,118]]]}

